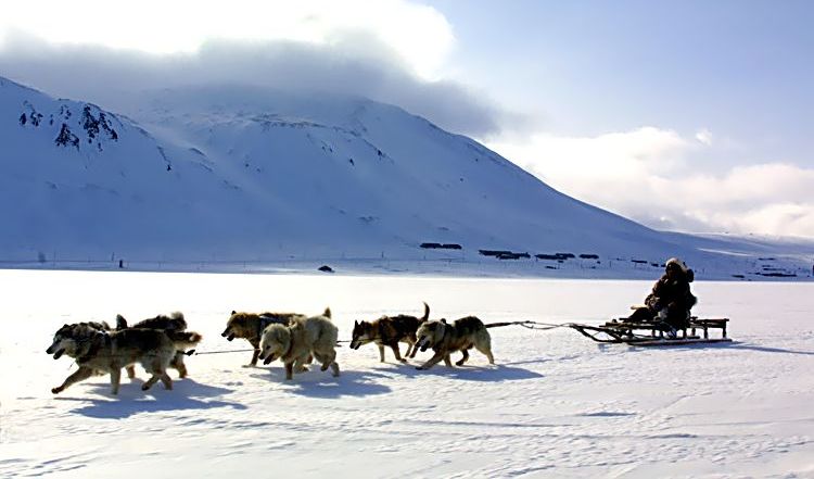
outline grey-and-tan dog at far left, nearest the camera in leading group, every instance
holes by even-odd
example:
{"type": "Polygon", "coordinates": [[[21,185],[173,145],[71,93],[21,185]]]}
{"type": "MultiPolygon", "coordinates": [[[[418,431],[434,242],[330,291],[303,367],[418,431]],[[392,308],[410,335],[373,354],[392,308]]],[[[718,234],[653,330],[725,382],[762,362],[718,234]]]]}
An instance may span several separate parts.
{"type": "Polygon", "coordinates": [[[186,331],[160,331],[157,329],[124,329],[103,331],[87,323],[64,325],[54,335],[46,350],[59,360],[63,354],[76,360],[79,369],[68,376],[61,386],[51,389],[59,394],[69,386],[94,374],[110,373],[111,393],[117,394],[122,368],[141,364],[151,378],[141,386],[147,391],[161,380],[166,389],[173,389],[173,380],[166,369],[179,348],[190,348],[201,341],[201,335],[186,331]]]}

